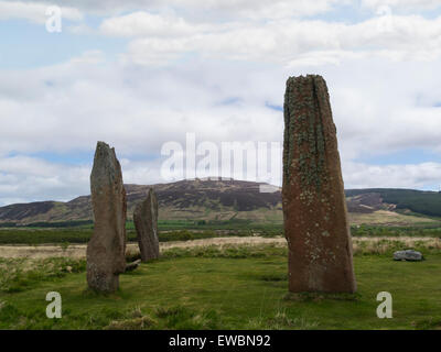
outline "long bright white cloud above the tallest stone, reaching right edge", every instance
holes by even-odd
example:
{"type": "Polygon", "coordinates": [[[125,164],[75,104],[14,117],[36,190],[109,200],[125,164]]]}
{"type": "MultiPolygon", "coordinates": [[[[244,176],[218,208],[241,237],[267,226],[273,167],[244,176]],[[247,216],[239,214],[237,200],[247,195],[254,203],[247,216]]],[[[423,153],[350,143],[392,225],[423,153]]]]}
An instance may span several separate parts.
{"type": "MultiPolygon", "coordinates": [[[[126,55],[137,64],[165,64],[187,53],[202,57],[272,62],[282,65],[337,64],[344,58],[386,57],[394,61],[433,61],[441,56],[441,16],[428,20],[417,15],[381,16],[355,24],[324,21],[271,21],[219,24],[202,31],[186,22],[187,35],[163,37],[161,25],[139,24],[123,16],[125,25],[105,24],[106,33],[132,35],[126,55]],[[143,35],[144,34],[144,35],[143,35]]],[[[162,19],[160,23],[166,23],[162,19]],[[161,22],[162,21],[162,22],[161,22]]],[[[174,30],[171,26],[171,34],[174,30]]]]}

